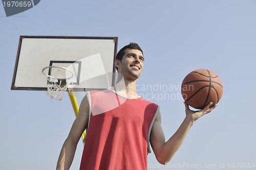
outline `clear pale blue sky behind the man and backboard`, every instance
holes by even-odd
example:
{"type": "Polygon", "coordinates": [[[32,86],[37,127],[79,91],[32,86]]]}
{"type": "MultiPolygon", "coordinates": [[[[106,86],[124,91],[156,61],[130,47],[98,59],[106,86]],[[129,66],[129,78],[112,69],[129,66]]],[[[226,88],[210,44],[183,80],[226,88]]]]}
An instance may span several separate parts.
{"type": "MultiPolygon", "coordinates": [[[[215,71],[224,86],[218,107],[195,123],[168,166],[160,167],[152,153],[148,169],[227,169],[232,163],[256,163],[255,9],[256,1],[247,0],[57,0],[6,17],[0,5],[0,169],[54,169],[75,118],[67,94],[52,102],[45,91],[10,90],[20,35],[115,36],[118,50],[139,43],[145,63],[138,92],[150,94],[149,100],[160,105],[166,139],[185,117],[179,98],[183,78],[199,68],[215,71]],[[178,89],[150,91],[143,85],[178,89]],[[161,99],[164,94],[173,98],[161,99]]],[[[82,95],[77,93],[79,103],[82,95]]],[[[71,169],[78,169],[81,153],[80,141],[71,169]]]]}

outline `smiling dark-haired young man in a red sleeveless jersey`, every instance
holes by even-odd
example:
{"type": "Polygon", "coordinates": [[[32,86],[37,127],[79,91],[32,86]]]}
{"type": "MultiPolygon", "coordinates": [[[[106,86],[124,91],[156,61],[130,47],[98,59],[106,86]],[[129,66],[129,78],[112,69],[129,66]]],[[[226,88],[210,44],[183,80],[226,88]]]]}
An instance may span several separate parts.
{"type": "Polygon", "coordinates": [[[165,141],[159,107],[141,99],[135,89],[143,64],[143,52],[136,43],[118,52],[115,66],[122,77],[118,77],[112,89],[91,91],[84,97],[61,149],[57,170],[70,168],[85,129],[81,170],[147,169],[150,144],[156,159],[165,164],[179,149],[195,121],[216,108],[217,105],[209,108],[212,104],[209,103],[196,112],[184,103],[186,117],[176,133],[165,141]]]}

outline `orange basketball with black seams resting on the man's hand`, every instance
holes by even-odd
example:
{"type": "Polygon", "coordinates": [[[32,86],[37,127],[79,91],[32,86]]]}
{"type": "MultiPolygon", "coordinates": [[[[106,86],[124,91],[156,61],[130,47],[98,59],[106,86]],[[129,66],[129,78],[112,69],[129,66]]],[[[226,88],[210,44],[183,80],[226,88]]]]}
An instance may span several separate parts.
{"type": "Polygon", "coordinates": [[[182,81],[181,94],[184,101],[195,109],[203,109],[210,102],[217,104],[222,97],[220,77],[207,69],[191,71],[182,81]]]}

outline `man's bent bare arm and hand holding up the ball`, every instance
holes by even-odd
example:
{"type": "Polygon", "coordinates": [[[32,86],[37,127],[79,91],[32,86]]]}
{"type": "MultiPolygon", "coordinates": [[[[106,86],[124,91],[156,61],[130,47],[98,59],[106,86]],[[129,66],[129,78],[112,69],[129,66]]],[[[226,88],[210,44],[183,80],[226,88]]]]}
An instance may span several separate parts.
{"type": "Polygon", "coordinates": [[[174,154],[180,148],[189,129],[191,128],[191,126],[193,126],[195,121],[204,114],[211,112],[217,107],[217,105],[215,105],[209,108],[212,105],[212,103],[209,103],[203,110],[193,111],[189,109],[188,105],[185,102],[184,104],[186,117],[184,118],[182,124],[175,132],[175,134],[170,137],[166,142],[161,127],[161,114],[160,112],[157,113],[157,117],[151,130],[150,142],[152,149],[156,155],[156,159],[161,164],[166,164],[170,161],[170,159],[173,158],[174,154]]]}

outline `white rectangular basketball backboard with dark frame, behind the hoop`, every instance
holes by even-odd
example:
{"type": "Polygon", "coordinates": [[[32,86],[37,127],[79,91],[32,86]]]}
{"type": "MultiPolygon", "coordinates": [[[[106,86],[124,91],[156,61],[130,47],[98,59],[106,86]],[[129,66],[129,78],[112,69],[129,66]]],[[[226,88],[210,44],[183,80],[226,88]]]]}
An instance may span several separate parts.
{"type": "Polygon", "coordinates": [[[20,36],[11,89],[47,90],[42,69],[49,66],[73,72],[69,90],[109,88],[116,51],[117,37],[20,36]]]}

